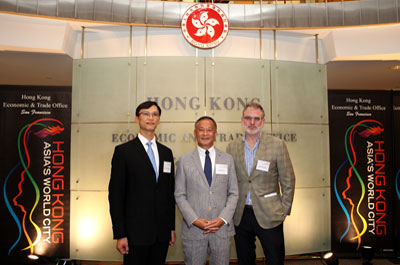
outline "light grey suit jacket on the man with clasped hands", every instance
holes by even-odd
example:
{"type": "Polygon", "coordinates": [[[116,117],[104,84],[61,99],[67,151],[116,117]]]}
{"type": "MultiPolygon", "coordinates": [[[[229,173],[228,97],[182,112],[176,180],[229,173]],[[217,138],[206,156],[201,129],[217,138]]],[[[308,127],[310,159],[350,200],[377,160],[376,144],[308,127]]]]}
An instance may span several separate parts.
{"type": "Polygon", "coordinates": [[[227,238],[235,234],[232,218],[239,193],[235,166],[231,155],[217,148],[215,152],[211,187],[201,166],[197,148],[183,155],[177,163],[175,200],[184,219],[182,239],[199,240],[208,236],[204,230],[192,224],[197,218],[211,220],[221,217],[228,223],[221,226],[215,235],[227,238]],[[226,174],[216,174],[218,165],[226,165],[226,174]]]}

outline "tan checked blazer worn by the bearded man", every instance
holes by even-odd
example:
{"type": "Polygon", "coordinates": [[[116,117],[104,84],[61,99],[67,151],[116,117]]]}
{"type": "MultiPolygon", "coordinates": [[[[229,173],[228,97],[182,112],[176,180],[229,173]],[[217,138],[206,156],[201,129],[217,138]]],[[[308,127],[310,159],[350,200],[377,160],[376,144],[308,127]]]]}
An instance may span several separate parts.
{"type": "Polygon", "coordinates": [[[285,143],[277,137],[262,134],[250,176],[244,161],[243,138],[230,143],[227,152],[235,160],[239,185],[235,225],[238,226],[242,220],[249,190],[258,224],[264,229],[280,225],[290,214],[295,187],[293,167],[285,143]],[[258,161],[269,162],[268,170],[257,169],[258,161]]]}

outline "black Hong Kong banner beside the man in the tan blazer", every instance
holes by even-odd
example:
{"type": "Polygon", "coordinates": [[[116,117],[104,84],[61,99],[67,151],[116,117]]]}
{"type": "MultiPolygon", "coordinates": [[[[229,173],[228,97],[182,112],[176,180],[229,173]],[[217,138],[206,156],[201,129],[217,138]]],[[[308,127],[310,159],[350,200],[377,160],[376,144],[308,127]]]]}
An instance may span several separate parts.
{"type": "Polygon", "coordinates": [[[390,91],[328,93],[332,249],[394,248],[390,91]]]}

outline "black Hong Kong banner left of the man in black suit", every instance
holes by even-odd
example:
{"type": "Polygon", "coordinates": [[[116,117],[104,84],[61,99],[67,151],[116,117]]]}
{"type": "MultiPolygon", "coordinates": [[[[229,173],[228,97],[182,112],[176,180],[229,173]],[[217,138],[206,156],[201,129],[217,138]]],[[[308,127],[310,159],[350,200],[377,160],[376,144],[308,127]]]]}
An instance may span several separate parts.
{"type": "Polygon", "coordinates": [[[1,258],[69,257],[71,87],[0,86],[1,258]]]}

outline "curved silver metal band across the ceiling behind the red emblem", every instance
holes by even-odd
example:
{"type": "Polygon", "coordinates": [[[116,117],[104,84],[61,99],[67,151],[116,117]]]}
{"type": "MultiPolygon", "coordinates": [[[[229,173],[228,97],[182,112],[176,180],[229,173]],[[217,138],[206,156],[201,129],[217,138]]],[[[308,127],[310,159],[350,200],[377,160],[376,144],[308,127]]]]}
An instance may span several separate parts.
{"type": "MultiPolygon", "coordinates": [[[[0,11],[40,16],[179,27],[194,3],[147,0],[0,0],[0,11]]],[[[232,28],[310,28],[398,23],[400,0],[359,0],[305,4],[217,4],[232,28]]]]}

